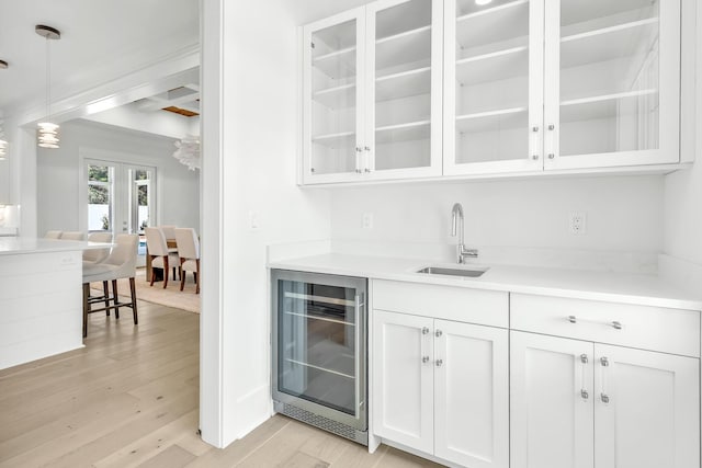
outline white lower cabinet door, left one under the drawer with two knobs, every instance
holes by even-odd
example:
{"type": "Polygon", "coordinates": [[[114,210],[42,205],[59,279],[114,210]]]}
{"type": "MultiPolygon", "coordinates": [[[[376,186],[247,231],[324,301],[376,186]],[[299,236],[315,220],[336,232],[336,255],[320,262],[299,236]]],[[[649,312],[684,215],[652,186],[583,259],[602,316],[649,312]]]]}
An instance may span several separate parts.
{"type": "Polygon", "coordinates": [[[510,332],[511,468],[593,467],[592,354],[589,342],[510,332]]]}

